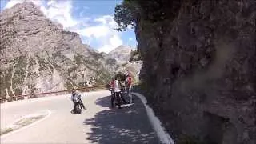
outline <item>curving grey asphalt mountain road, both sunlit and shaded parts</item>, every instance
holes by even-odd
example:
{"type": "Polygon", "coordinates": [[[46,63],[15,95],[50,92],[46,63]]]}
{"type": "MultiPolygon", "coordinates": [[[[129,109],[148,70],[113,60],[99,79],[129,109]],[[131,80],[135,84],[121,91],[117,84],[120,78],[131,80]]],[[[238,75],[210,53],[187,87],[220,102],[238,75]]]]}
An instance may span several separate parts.
{"type": "Polygon", "coordinates": [[[1,143],[160,143],[135,97],[134,105],[110,109],[110,92],[83,93],[87,110],[71,114],[70,95],[34,98],[1,104],[1,129],[26,114],[50,110],[50,116],[33,126],[3,135],[1,143]]]}

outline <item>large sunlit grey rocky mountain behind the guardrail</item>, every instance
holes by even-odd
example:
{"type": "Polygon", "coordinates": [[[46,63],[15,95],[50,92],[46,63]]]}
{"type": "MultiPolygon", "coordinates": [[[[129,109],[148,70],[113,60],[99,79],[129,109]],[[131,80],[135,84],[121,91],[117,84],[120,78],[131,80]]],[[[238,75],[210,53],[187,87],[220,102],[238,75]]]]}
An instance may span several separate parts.
{"type": "Polygon", "coordinates": [[[1,96],[105,83],[115,62],[51,22],[32,2],[0,14],[1,96]]]}

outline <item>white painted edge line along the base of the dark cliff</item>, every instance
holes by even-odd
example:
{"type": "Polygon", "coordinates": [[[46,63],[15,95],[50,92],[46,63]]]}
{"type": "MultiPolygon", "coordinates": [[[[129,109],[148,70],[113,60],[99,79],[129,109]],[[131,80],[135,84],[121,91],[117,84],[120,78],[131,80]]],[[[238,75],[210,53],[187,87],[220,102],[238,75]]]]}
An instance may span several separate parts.
{"type": "Polygon", "coordinates": [[[152,108],[147,104],[145,96],[135,92],[132,92],[132,94],[141,99],[143,105],[146,108],[146,114],[150,118],[150,123],[154,127],[154,130],[157,132],[160,141],[165,144],[174,144],[173,138],[171,138],[170,134],[166,132],[166,129],[162,126],[162,122],[160,122],[159,118],[155,116],[154,110],[152,110],[152,108]]]}

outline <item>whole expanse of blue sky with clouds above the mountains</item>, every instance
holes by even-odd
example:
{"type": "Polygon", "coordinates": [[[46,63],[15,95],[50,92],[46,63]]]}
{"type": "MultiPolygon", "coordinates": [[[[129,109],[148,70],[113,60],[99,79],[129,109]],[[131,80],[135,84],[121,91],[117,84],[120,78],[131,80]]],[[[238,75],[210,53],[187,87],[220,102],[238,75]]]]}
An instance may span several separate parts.
{"type": "MultiPolygon", "coordinates": [[[[24,0],[0,0],[1,11],[24,0]]],[[[65,30],[80,34],[82,42],[98,51],[109,52],[119,45],[137,45],[134,30],[114,30],[114,7],[122,0],[29,0],[39,6],[47,18],[61,23],[65,30]]]]}

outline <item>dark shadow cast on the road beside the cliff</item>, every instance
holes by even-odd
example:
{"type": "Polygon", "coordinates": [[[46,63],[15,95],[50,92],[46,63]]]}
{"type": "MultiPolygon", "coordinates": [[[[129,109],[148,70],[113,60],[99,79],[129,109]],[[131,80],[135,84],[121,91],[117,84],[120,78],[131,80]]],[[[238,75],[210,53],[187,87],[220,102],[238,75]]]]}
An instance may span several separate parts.
{"type": "MultiPolygon", "coordinates": [[[[103,110],[95,118],[86,119],[85,125],[91,125],[90,142],[100,144],[114,143],[159,143],[150,126],[146,110],[138,98],[134,105],[122,105],[122,109],[103,110]]],[[[110,96],[99,98],[98,106],[110,107],[110,96]]]]}

